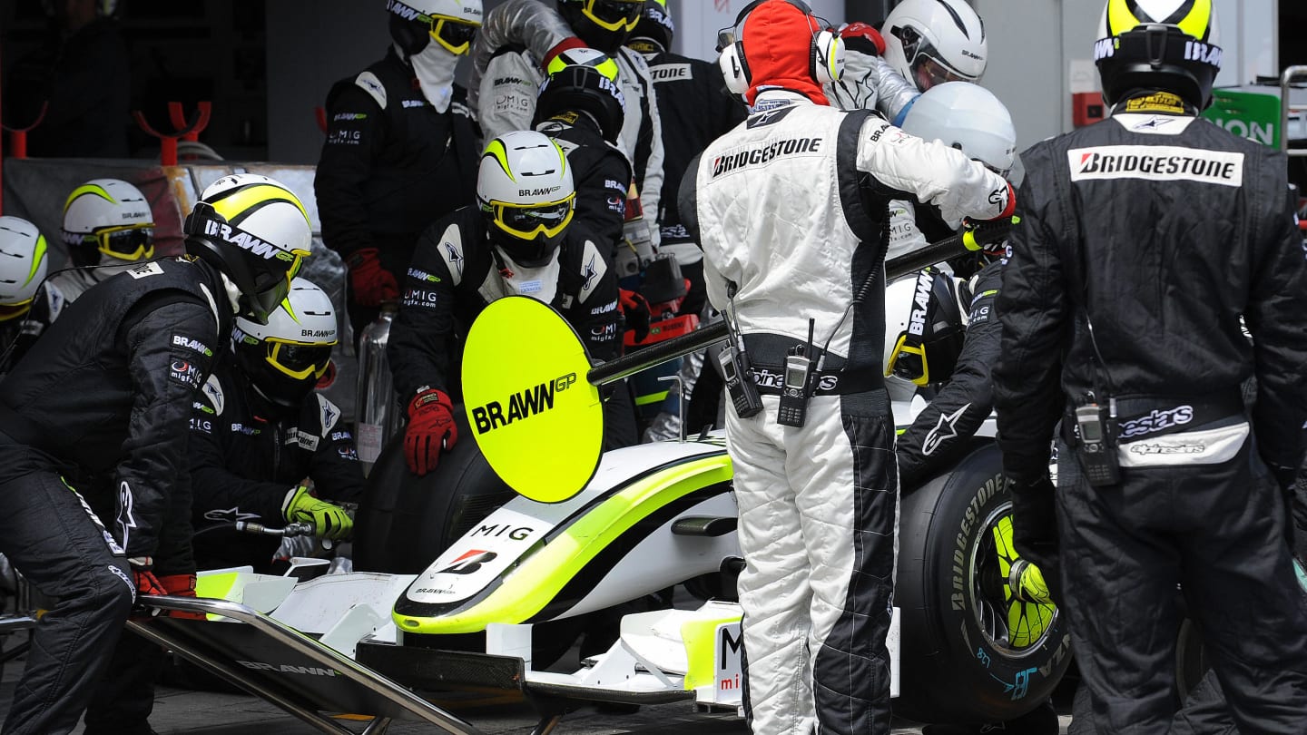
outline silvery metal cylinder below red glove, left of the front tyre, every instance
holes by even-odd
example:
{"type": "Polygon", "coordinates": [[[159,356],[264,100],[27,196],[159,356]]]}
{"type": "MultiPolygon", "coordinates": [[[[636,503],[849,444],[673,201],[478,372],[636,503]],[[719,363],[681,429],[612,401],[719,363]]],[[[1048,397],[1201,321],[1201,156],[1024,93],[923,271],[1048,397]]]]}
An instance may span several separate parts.
{"type": "Polygon", "coordinates": [[[399,303],[386,301],[382,313],[363,330],[358,340],[358,394],[356,404],[357,425],[354,438],[358,442],[358,459],[363,463],[363,475],[372,471],[372,464],[382,447],[400,430],[403,412],[395,399],[395,382],[391,378],[391,365],[386,358],[386,343],[391,336],[391,324],[399,303]]]}

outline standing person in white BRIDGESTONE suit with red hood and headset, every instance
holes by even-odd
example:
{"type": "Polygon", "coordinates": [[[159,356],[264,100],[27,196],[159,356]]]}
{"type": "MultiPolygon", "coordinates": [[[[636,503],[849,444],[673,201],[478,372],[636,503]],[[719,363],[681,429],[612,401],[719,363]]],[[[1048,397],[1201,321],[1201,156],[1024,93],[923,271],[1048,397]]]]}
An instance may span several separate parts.
{"type": "Polygon", "coordinates": [[[707,148],[697,180],[710,301],[742,335],[754,375],[801,362],[810,378],[784,411],[770,381],[757,386],[761,411],[727,411],[748,562],[745,709],[759,734],[890,731],[887,205],[916,196],[989,220],[1016,199],[958,150],[829,107],[822,84],[839,77],[842,47],[825,27],[788,0],[740,13],[721,68],[754,112],[707,148]]]}

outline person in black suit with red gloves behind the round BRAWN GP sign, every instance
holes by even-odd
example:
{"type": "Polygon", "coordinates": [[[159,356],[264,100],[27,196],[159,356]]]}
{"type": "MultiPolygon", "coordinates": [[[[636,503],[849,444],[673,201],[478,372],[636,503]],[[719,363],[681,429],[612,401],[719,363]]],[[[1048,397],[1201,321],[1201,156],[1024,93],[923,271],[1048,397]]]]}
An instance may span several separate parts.
{"type": "MultiPolygon", "coordinates": [[[[404,451],[413,473],[434,470],[459,441],[455,335],[465,335],[491,301],[521,294],[549,303],[592,358],[618,356],[617,277],[595,241],[569,226],[575,197],[562,149],[540,132],[510,132],[481,157],[480,212],[464,207],[418,241],[387,344],[395,390],[408,405],[404,451]]],[[[630,398],[614,390],[605,395],[604,446],[631,443],[630,398]]]]}

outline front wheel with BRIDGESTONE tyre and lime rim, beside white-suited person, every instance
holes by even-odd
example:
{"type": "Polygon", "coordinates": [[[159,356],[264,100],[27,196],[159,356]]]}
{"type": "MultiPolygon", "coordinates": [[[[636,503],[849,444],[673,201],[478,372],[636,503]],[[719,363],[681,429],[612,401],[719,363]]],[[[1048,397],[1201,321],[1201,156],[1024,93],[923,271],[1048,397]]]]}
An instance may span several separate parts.
{"type": "Polygon", "coordinates": [[[1014,719],[1043,704],[1070,663],[1065,616],[1013,595],[1012,500],[999,449],[978,443],[902,501],[895,714],[936,723],[1014,719]]]}

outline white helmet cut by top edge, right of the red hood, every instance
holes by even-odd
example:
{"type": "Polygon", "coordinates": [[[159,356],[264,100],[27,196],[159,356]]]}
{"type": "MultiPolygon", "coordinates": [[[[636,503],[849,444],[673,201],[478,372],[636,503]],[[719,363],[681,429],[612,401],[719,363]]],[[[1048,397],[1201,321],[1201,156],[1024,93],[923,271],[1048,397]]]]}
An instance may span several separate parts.
{"type": "Polygon", "coordinates": [[[946,81],[976,81],[989,56],[980,16],[962,0],[904,0],[881,25],[885,60],[925,92],[946,81]]]}

